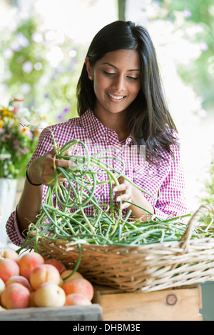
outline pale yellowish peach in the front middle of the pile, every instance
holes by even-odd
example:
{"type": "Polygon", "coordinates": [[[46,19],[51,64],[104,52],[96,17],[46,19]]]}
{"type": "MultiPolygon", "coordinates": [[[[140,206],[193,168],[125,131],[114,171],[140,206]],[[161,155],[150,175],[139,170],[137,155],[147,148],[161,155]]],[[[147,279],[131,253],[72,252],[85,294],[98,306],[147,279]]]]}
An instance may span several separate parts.
{"type": "Polygon", "coordinates": [[[66,302],[66,294],[58,285],[47,282],[34,292],[34,302],[38,307],[61,307],[66,302]]]}

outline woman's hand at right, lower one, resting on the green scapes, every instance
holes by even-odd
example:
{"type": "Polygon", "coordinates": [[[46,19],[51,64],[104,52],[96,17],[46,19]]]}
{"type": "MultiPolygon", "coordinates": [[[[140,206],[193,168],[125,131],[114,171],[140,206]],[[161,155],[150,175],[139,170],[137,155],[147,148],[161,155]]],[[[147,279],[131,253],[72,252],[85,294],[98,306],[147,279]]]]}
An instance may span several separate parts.
{"type": "Polygon", "coordinates": [[[141,218],[142,221],[148,220],[148,216],[150,216],[149,214],[154,214],[154,209],[150,202],[148,202],[148,200],[145,198],[145,196],[143,196],[142,192],[136,188],[136,186],[129,183],[122,176],[118,179],[118,182],[119,185],[114,186],[113,191],[116,193],[116,201],[121,202],[119,205],[120,209],[131,209],[133,216],[136,216],[136,218],[141,218]],[[126,201],[132,202],[133,204],[129,204],[126,201]],[[143,207],[143,209],[146,209],[146,211],[138,208],[134,204],[143,207]]]}

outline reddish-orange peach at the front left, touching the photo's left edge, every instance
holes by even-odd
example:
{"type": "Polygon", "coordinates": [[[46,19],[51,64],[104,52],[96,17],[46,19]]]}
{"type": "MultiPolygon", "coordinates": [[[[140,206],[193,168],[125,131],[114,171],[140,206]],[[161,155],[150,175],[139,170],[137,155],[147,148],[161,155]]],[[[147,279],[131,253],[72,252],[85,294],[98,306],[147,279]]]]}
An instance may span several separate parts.
{"type": "Polygon", "coordinates": [[[6,286],[1,294],[1,305],[6,309],[26,309],[29,307],[30,291],[19,283],[6,286]]]}

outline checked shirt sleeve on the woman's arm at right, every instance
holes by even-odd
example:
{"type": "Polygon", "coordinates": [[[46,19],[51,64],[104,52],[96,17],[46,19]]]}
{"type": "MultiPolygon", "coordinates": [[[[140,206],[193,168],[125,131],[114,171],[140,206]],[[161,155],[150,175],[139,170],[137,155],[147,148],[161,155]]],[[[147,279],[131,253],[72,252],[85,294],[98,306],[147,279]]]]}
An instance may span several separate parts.
{"type": "Polygon", "coordinates": [[[187,214],[185,200],[185,179],[183,164],[180,160],[180,146],[173,145],[173,158],[170,169],[160,187],[159,197],[154,206],[155,214],[161,219],[187,214]]]}

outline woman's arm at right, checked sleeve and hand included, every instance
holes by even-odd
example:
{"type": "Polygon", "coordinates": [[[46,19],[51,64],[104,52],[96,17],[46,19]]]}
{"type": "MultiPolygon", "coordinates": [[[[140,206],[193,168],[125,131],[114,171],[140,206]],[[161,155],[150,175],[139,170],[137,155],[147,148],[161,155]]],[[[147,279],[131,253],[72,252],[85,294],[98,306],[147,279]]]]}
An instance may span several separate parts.
{"type": "MultiPolygon", "coordinates": [[[[185,179],[183,174],[183,164],[180,160],[180,147],[172,146],[174,156],[168,162],[167,173],[165,179],[159,189],[157,189],[157,200],[153,204],[149,202],[146,196],[141,191],[136,189],[135,186],[128,183],[128,181],[120,178],[118,179],[120,185],[116,186],[116,201],[130,201],[133,204],[143,207],[151,214],[155,214],[161,219],[168,219],[169,217],[182,216],[187,214],[187,206],[185,201],[185,179]],[[158,191],[159,190],[159,191],[158,191]]],[[[146,187],[147,179],[145,179],[146,187]]],[[[153,184],[153,187],[156,187],[153,184]]],[[[115,190],[115,188],[114,188],[115,190]]],[[[146,190],[151,192],[151,189],[146,187],[146,190]]],[[[139,209],[126,202],[122,204],[123,209],[131,209],[133,216],[147,220],[145,211],[139,209]]]]}

